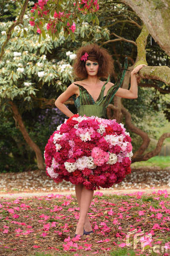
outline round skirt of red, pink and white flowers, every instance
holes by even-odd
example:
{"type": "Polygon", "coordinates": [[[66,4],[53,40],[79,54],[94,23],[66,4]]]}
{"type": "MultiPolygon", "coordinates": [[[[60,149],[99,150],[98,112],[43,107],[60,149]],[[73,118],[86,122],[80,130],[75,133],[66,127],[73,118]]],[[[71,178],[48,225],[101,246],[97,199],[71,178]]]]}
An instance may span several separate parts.
{"type": "Polygon", "coordinates": [[[46,144],[46,174],[86,189],[109,188],[131,172],[130,134],[116,120],[78,114],[57,127],[46,144]]]}

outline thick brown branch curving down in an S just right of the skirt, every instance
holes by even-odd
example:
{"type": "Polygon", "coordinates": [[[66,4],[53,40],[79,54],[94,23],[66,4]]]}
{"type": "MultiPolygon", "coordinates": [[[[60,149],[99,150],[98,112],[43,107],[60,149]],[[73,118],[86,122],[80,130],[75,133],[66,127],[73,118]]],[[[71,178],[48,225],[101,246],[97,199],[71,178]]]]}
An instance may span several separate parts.
{"type": "Polygon", "coordinates": [[[141,156],[144,153],[144,151],[146,150],[146,148],[148,147],[148,145],[150,143],[150,138],[148,137],[146,132],[142,131],[141,129],[139,129],[138,127],[135,127],[135,125],[133,125],[133,123],[131,122],[131,114],[127,111],[126,108],[124,108],[123,105],[121,105],[121,111],[125,116],[127,128],[129,128],[130,131],[134,132],[135,134],[138,134],[139,136],[141,136],[141,138],[143,140],[141,146],[133,154],[133,157],[132,157],[132,160],[133,160],[133,159],[135,159],[135,157],[141,156]]]}

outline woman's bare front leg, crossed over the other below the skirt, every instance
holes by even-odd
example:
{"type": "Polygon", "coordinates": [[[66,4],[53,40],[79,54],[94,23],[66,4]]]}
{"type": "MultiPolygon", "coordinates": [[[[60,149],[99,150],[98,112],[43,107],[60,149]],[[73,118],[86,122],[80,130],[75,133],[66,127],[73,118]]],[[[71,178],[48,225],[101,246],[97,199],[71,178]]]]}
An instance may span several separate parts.
{"type": "Polygon", "coordinates": [[[81,200],[80,200],[80,218],[79,218],[78,225],[75,232],[77,235],[83,235],[84,225],[85,225],[87,213],[89,211],[89,207],[92,201],[93,194],[94,194],[94,190],[86,189],[85,186],[83,186],[81,190],[81,200]]]}

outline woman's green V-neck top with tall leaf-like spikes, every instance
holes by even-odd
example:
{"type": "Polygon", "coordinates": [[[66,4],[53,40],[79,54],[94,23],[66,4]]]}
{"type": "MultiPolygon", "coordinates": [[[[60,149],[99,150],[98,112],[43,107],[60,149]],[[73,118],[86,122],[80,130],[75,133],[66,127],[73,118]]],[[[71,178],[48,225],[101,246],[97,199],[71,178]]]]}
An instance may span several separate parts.
{"type": "Polygon", "coordinates": [[[107,95],[104,96],[104,90],[105,85],[109,81],[109,76],[106,81],[106,83],[101,88],[101,93],[98,96],[98,99],[94,101],[92,96],[89,94],[89,92],[79,84],[76,84],[79,87],[80,95],[75,99],[75,96],[73,96],[75,107],[78,110],[78,113],[80,116],[98,116],[102,118],[106,118],[106,108],[109,105],[109,103],[112,101],[113,97],[115,96],[115,93],[117,92],[118,88],[121,87],[122,81],[124,79],[124,75],[126,73],[127,69],[127,58],[125,58],[124,61],[124,69],[121,70],[121,72],[118,74],[118,80],[116,83],[110,87],[110,89],[107,92],[107,95]]]}

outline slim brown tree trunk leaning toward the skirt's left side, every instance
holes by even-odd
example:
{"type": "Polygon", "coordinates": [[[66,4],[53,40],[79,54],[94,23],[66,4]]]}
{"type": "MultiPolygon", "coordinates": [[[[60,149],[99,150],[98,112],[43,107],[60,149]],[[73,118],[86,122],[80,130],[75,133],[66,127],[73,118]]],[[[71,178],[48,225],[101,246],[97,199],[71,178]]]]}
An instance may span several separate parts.
{"type": "Polygon", "coordinates": [[[14,117],[17,120],[17,123],[19,125],[18,128],[20,129],[21,133],[23,134],[24,139],[29,144],[29,146],[32,148],[32,150],[35,151],[38,169],[44,170],[45,166],[44,166],[43,157],[42,157],[40,148],[29,137],[29,134],[26,131],[25,125],[24,125],[22,117],[17,109],[17,106],[12,101],[10,101],[9,104],[11,105],[12,111],[14,113],[14,117]]]}

